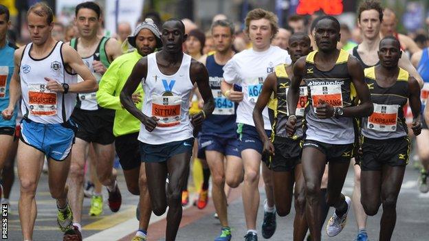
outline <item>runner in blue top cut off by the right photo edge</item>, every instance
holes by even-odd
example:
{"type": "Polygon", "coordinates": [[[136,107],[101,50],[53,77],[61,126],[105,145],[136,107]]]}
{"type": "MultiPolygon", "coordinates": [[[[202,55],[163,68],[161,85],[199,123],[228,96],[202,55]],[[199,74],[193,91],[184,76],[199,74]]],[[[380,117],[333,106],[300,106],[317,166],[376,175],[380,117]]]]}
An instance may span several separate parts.
{"type": "MultiPolygon", "coordinates": [[[[429,48],[418,51],[411,57],[411,62],[424,80],[420,93],[421,110],[425,109],[429,95],[429,48]]],[[[419,190],[422,193],[429,192],[429,130],[425,118],[422,118],[422,129],[420,135],[416,137],[417,153],[422,165],[419,176],[419,190]]]]}

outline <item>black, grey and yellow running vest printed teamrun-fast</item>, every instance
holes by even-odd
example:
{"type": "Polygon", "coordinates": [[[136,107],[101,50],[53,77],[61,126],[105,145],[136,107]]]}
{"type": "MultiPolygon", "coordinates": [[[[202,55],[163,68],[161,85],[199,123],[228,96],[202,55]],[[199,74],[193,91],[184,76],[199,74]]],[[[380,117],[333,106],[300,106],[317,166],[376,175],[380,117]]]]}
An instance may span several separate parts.
{"type": "Polygon", "coordinates": [[[314,112],[314,106],[318,106],[320,100],[334,107],[353,105],[356,91],[347,67],[349,53],[340,49],[334,67],[330,71],[320,71],[314,62],[317,52],[312,51],[307,55],[303,75],[309,92],[309,109],[305,115],[306,139],[329,144],[352,144],[355,133],[351,117],[320,119],[314,112]]]}

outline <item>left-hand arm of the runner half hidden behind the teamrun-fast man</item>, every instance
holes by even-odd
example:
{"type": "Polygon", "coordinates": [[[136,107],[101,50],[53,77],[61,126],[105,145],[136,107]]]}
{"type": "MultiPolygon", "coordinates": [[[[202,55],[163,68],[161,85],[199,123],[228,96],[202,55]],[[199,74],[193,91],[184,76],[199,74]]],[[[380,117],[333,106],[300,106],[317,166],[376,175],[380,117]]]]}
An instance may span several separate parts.
{"type": "Polygon", "coordinates": [[[272,145],[270,138],[267,137],[267,133],[265,133],[262,111],[267,106],[268,102],[270,102],[271,94],[273,92],[276,93],[276,82],[276,73],[270,73],[263,82],[261,94],[259,95],[253,109],[253,121],[259,137],[261,137],[261,140],[263,141],[263,151],[270,154],[274,154],[274,146],[272,145]]]}

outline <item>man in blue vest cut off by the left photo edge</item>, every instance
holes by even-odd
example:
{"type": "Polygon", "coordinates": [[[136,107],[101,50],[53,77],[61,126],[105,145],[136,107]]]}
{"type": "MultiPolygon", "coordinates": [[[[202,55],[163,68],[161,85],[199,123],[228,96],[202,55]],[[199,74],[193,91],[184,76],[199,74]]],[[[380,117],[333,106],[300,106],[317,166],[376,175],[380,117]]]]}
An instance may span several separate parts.
{"type": "MultiPolygon", "coordinates": [[[[10,14],[5,5],[0,4],[0,111],[3,111],[9,104],[10,78],[14,71],[14,51],[17,46],[9,43],[6,34],[10,27],[10,14]]],[[[6,159],[10,157],[10,152],[14,143],[15,120],[17,112],[10,119],[3,119],[0,116],[0,172],[3,170],[6,159]]],[[[0,198],[3,187],[0,184],[0,198]]]]}

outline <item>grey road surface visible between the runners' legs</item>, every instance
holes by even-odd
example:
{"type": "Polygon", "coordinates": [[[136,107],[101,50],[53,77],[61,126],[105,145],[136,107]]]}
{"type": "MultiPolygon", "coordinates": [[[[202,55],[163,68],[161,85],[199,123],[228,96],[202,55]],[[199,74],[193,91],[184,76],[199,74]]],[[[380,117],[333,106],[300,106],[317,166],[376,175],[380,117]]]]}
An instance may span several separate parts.
{"type": "MultiPolygon", "coordinates": [[[[102,216],[88,216],[89,198],[84,200],[83,209],[83,237],[84,240],[131,240],[138,222],[135,219],[135,207],[138,198],[130,194],[125,187],[122,172],[118,172],[118,182],[122,192],[122,207],[118,213],[113,214],[107,206],[107,192],[104,188],[104,213],[102,216]]],[[[399,194],[397,203],[397,224],[392,240],[426,241],[429,237],[429,194],[421,194],[417,189],[417,178],[419,172],[408,165],[404,183],[399,194]]],[[[258,231],[261,233],[263,218],[263,200],[265,193],[263,186],[261,190],[261,203],[258,214],[258,231]]],[[[353,190],[353,170],[350,168],[344,184],[343,193],[351,196],[353,190]]],[[[12,189],[11,205],[8,213],[8,240],[22,240],[21,227],[17,211],[17,200],[19,198],[19,182],[16,181],[12,189]]],[[[195,194],[192,198],[196,198],[195,194]]],[[[42,174],[36,195],[38,205],[38,216],[34,228],[34,240],[62,240],[62,233],[56,225],[55,201],[50,197],[47,187],[47,175],[42,174]]],[[[192,202],[191,202],[192,203],[192,202]]],[[[292,205],[292,207],[294,207],[292,205]]],[[[232,191],[229,200],[228,218],[232,228],[232,240],[243,240],[245,235],[245,219],[241,201],[240,187],[232,191]]],[[[329,211],[328,218],[333,209],[329,211]]],[[[184,210],[181,227],[177,234],[177,240],[214,240],[219,235],[219,220],[213,217],[214,207],[210,200],[206,209],[199,210],[192,205],[184,210]]],[[[369,217],[367,231],[370,240],[378,239],[380,230],[380,218],[382,209],[377,215],[369,217]]],[[[270,240],[292,240],[294,210],[286,217],[277,216],[277,230],[270,240]]],[[[148,229],[149,240],[165,240],[165,215],[152,216],[151,225],[148,229]]],[[[333,238],[328,238],[325,229],[322,231],[322,240],[355,240],[357,226],[353,209],[349,214],[347,226],[342,233],[333,238]]],[[[263,240],[259,234],[259,240],[263,240]]]]}

